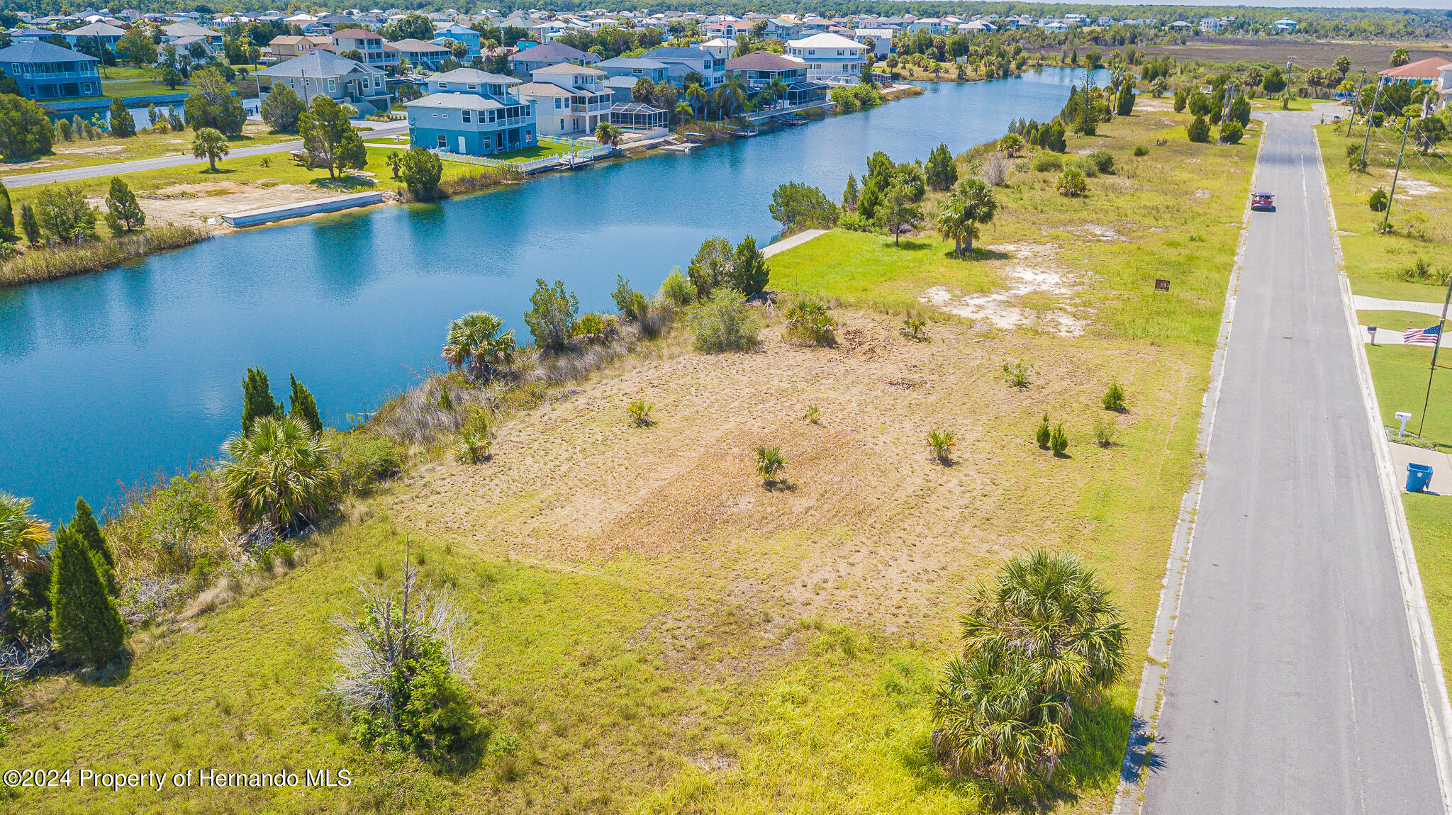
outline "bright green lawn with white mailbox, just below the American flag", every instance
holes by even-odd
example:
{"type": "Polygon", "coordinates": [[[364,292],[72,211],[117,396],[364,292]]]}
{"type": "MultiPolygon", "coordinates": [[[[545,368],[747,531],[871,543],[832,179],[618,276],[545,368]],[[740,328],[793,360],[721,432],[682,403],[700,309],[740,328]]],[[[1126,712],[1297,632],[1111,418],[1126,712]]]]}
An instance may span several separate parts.
{"type": "MultiPolygon", "coordinates": [[[[1368,345],[1366,361],[1371,364],[1382,423],[1388,428],[1398,426],[1395,413],[1404,410],[1413,415],[1407,422],[1407,431],[1416,432],[1423,421],[1422,403],[1427,399],[1432,347],[1368,345]]],[[[1452,368],[1452,352],[1442,348],[1437,355],[1437,373],[1432,377],[1432,400],[1422,431],[1426,439],[1445,447],[1452,447],[1452,370],[1449,368],[1452,368]]]]}

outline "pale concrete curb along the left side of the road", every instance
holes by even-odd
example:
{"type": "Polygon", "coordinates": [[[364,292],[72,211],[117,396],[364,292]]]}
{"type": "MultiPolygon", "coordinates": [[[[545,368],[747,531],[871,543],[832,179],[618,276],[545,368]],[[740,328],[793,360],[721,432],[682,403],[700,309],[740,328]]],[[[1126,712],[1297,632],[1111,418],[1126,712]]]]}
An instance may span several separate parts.
{"type": "MultiPolygon", "coordinates": [[[[1260,152],[1265,151],[1270,123],[1262,123],[1260,144],[1256,146],[1256,167],[1250,173],[1250,189],[1260,175],[1260,152]]],[[[1230,351],[1230,329],[1236,318],[1236,296],[1240,291],[1240,273],[1244,268],[1247,229],[1250,228],[1250,200],[1240,216],[1240,241],[1236,245],[1236,262],[1230,267],[1230,283],[1225,287],[1225,307],[1220,316],[1220,336],[1215,339],[1215,354],[1210,361],[1210,387],[1201,402],[1199,437],[1195,452],[1204,461],[1210,451],[1210,439],[1215,431],[1215,408],[1220,403],[1220,386],[1225,371],[1225,354],[1230,351]]],[[[1170,538],[1170,555],[1165,564],[1165,580],[1160,583],[1160,603],[1154,612],[1154,632],[1144,670],[1140,673],[1140,692],[1134,702],[1134,719],[1130,725],[1130,741],[1119,763],[1119,789],[1114,796],[1114,815],[1138,815],[1144,806],[1144,783],[1140,776],[1144,757],[1160,719],[1165,703],[1165,676],[1169,671],[1170,642],[1175,640],[1175,622],[1179,619],[1180,595],[1185,590],[1185,571],[1189,568],[1189,551],[1195,538],[1195,513],[1199,510],[1199,496],[1205,487],[1205,470],[1201,466],[1180,499],[1179,518],[1170,538]]]]}

